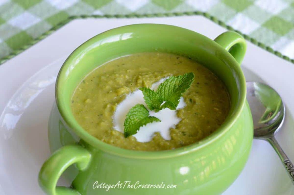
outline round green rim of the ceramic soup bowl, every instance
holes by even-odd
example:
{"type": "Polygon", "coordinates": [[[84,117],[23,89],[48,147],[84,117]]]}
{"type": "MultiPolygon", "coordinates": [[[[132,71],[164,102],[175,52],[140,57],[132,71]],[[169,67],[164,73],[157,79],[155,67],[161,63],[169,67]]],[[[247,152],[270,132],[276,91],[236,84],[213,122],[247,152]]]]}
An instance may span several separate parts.
{"type": "Polygon", "coordinates": [[[76,124],[74,124],[72,122],[72,120],[74,120],[74,121],[76,121],[76,120],[66,114],[65,105],[59,104],[59,100],[61,99],[61,97],[60,97],[61,92],[59,91],[59,86],[64,84],[64,82],[61,81],[60,78],[64,74],[66,74],[66,68],[68,66],[70,66],[71,60],[74,59],[74,56],[76,56],[77,54],[80,53],[80,51],[78,51],[78,50],[82,46],[85,46],[85,44],[88,44],[90,41],[93,41],[95,39],[97,39],[97,41],[99,41],[99,36],[101,36],[101,35],[104,36],[104,35],[108,34],[108,32],[110,32],[110,31],[118,30],[118,29],[125,28],[125,27],[140,28],[140,27],[146,27],[146,25],[149,25],[149,27],[167,26],[170,28],[181,29],[183,31],[191,31],[191,30],[188,30],[188,29],[185,29],[182,27],[173,26],[173,25],[166,25],[166,24],[132,24],[132,25],[120,26],[120,27],[117,27],[114,29],[110,29],[108,31],[104,31],[104,32],[92,37],[91,39],[88,39],[86,42],[84,42],[83,44],[78,46],[78,48],[76,48],[67,57],[64,64],[61,66],[61,68],[59,70],[59,73],[58,73],[58,76],[56,79],[56,85],[55,85],[55,101],[56,101],[57,108],[59,110],[59,114],[61,115],[61,118],[65,122],[65,124],[72,131],[74,131],[76,133],[76,135],[78,135],[81,138],[81,140],[83,140],[84,145],[89,144],[96,149],[99,149],[101,151],[104,151],[104,152],[107,152],[109,154],[113,154],[116,156],[121,156],[121,157],[131,158],[131,159],[166,159],[166,158],[182,156],[184,154],[189,154],[191,152],[198,151],[198,150],[210,145],[214,141],[218,140],[220,137],[222,137],[227,131],[230,130],[230,128],[235,123],[235,121],[239,118],[239,115],[241,114],[243,107],[245,105],[245,101],[246,101],[246,81],[245,81],[245,76],[243,74],[243,71],[240,67],[240,64],[238,64],[238,62],[234,59],[234,57],[227,50],[225,50],[222,46],[217,44],[212,39],[209,39],[208,37],[206,37],[202,34],[199,34],[195,31],[191,31],[191,32],[193,32],[195,34],[195,36],[201,36],[203,39],[206,39],[206,41],[213,44],[213,46],[217,47],[217,49],[219,49],[221,51],[223,57],[228,58],[232,62],[231,64],[233,64],[233,65],[231,65],[231,69],[232,69],[232,71],[234,71],[234,73],[236,73],[236,76],[238,77],[238,79],[240,81],[239,86],[238,86],[239,87],[238,103],[235,106],[233,114],[231,114],[231,116],[228,116],[225,119],[226,124],[222,124],[218,129],[216,129],[216,131],[214,131],[209,136],[206,136],[205,138],[201,139],[200,141],[195,142],[193,144],[190,144],[188,146],[183,146],[183,147],[172,149],[172,150],[162,150],[162,151],[136,151],[136,150],[119,148],[117,146],[107,144],[107,143],[97,139],[96,137],[89,134],[86,130],[84,130],[81,126],[79,126],[79,125],[77,126],[76,124]]]}

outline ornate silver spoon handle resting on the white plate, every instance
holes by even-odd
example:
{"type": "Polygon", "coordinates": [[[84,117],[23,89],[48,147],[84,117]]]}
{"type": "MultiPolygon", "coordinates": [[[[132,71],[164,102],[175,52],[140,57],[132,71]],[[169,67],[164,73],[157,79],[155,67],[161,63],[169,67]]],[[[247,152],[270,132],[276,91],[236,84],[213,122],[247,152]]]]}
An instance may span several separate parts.
{"type": "Polygon", "coordinates": [[[279,155],[281,161],[283,162],[285,169],[287,170],[287,173],[289,177],[292,180],[292,183],[294,184],[294,166],[289,160],[288,156],[285,154],[281,146],[279,145],[278,141],[275,139],[275,137],[270,137],[267,139],[268,142],[270,142],[270,145],[273,146],[277,154],[279,155]]]}

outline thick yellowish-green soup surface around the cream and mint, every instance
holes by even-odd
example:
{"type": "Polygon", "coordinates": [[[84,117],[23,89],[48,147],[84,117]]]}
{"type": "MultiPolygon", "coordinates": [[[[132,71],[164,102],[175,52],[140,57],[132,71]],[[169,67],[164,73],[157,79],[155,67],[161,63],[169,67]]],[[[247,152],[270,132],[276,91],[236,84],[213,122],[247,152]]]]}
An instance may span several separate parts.
{"type": "Polygon", "coordinates": [[[215,131],[225,120],[230,99],[225,85],[210,70],[183,56],[139,53],[109,61],[88,74],[77,86],[71,103],[78,123],[91,135],[117,147],[141,151],[175,149],[193,144],[215,131]],[[193,72],[183,94],[186,106],[177,110],[181,121],[170,129],[170,140],[156,132],[149,142],[124,137],[113,126],[116,106],[139,87],[151,87],[162,78],[193,72]]]}

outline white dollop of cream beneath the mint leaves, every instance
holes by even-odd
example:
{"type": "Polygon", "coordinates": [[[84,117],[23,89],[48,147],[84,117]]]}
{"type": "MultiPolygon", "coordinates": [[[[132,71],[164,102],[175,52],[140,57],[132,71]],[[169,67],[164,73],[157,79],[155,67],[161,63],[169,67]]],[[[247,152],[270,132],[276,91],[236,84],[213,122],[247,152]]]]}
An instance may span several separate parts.
{"type": "MultiPolygon", "coordinates": [[[[163,78],[159,80],[158,82],[154,83],[151,86],[151,89],[156,90],[158,86],[167,79],[163,78]]],[[[123,123],[126,119],[126,114],[128,111],[135,106],[136,104],[143,104],[147,109],[147,105],[144,102],[144,96],[141,90],[136,90],[133,93],[130,93],[126,96],[126,99],[124,99],[120,104],[117,105],[116,111],[113,114],[113,128],[116,131],[120,131],[123,133],[124,127],[123,123]]],[[[176,110],[170,110],[168,108],[162,109],[161,111],[154,112],[150,111],[150,116],[155,116],[158,119],[161,120],[161,122],[153,122],[148,123],[145,126],[140,127],[139,131],[137,131],[136,134],[133,136],[137,139],[139,142],[148,142],[151,141],[154,133],[159,132],[163,139],[170,140],[171,134],[170,134],[170,128],[175,128],[176,125],[181,121],[180,118],[177,117],[177,110],[182,109],[186,106],[186,103],[181,97],[180,103],[178,104],[176,110]]]]}

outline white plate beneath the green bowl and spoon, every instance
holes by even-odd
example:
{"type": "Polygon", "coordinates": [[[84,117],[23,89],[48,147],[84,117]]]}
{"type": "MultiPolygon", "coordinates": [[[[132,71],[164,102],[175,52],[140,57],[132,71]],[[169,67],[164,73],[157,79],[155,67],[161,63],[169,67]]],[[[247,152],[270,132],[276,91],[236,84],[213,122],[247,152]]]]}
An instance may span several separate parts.
{"type": "MultiPolygon", "coordinates": [[[[136,23],[172,24],[211,39],[226,31],[202,16],[77,19],[1,65],[0,194],[42,194],[37,182],[38,172],[50,155],[47,123],[54,101],[56,75],[66,56],[100,32],[136,23]]],[[[242,66],[248,81],[263,81],[282,96],[287,106],[286,119],[277,139],[294,160],[294,64],[248,43],[242,66]]],[[[69,185],[62,179],[59,183],[69,185]]],[[[265,141],[253,141],[244,170],[224,192],[236,193],[294,194],[283,164],[265,141]]]]}

